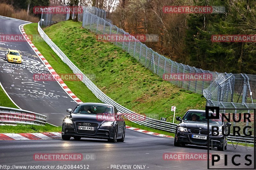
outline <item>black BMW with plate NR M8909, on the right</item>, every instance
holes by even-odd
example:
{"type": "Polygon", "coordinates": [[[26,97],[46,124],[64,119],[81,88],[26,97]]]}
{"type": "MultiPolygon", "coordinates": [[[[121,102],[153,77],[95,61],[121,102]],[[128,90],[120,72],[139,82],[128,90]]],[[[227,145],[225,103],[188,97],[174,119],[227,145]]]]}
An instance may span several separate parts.
{"type": "Polygon", "coordinates": [[[218,151],[227,149],[227,137],[222,133],[228,134],[228,127],[231,126],[231,123],[224,123],[221,114],[219,119],[209,120],[209,131],[208,120],[205,119],[205,110],[188,110],[182,119],[176,117],[176,120],[180,123],[176,127],[174,146],[186,144],[208,146],[207,136],[209,132],[210,147],[217,147],[218,151]],[[212,127],[217,126],[219,131],[212,133],[212,127]]]}

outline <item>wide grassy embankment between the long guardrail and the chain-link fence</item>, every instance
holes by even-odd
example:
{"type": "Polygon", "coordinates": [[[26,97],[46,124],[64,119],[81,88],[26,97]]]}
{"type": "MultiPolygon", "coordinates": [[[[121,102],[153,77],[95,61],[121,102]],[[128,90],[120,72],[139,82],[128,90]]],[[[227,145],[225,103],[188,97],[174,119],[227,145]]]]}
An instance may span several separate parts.
{"type": "Polygon", "coordinates": [[[96,41],[96,35],[79,22],[60,22],[44,31],[80,70],[95,75],[92,81],[100,90],[132,111],[154,114],[156,119],[166,117],[172,122],[171,106],[176,106],[177,116],[183,116],[188,109],[205,107],[203,95],[163,81],[121,48],[96,41]]]}

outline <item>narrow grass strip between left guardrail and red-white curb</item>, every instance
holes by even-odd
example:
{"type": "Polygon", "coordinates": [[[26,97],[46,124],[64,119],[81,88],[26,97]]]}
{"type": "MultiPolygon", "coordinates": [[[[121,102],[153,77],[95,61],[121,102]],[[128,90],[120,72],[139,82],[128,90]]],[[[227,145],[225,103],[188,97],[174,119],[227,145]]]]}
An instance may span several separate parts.
{"type": "Polygon", "coordinates": [[[0,133],[37,133],[37,132],[60,132],[61,127],[55,127],[50,124],[44,126],[38,125],[3,125],[0,126],[0,133]]]}

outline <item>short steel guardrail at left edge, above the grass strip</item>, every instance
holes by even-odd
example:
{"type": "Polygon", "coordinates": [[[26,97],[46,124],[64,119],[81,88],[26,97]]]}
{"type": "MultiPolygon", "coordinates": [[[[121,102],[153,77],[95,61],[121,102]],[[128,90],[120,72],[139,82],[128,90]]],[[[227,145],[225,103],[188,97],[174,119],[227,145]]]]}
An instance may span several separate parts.
{"type": "Polygon", "coordinates": [[[0,107],[0,123],[45,125],[45,115],[12,107],[0,107]]]}

